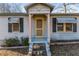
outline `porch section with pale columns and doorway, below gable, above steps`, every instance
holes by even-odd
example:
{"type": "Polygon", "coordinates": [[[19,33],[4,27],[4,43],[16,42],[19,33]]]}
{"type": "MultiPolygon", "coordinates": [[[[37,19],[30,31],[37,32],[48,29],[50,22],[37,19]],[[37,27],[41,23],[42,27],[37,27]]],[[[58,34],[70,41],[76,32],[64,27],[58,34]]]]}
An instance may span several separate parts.
{"type": "Polygon", "coordinates": [[[50,43],[50,14],[29,14],[29,43],[50,43]]]}

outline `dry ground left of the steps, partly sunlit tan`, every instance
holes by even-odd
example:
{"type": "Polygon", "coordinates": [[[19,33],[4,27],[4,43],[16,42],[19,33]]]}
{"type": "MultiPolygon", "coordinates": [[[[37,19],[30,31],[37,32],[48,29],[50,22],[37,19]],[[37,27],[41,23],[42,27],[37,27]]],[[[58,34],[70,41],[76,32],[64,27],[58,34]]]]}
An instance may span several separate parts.
{"type": "Polygon", "coordinates": [[[26,56],[27,48],[0,49],[0,56],[26,56]]]}

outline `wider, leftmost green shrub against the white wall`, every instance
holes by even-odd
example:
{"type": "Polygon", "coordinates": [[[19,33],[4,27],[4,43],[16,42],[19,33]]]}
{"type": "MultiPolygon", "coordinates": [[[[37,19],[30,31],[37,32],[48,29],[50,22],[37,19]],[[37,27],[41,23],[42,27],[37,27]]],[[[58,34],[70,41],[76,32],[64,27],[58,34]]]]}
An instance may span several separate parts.
{"type": "Polygon", "coordinates": [[[19,39],[16,38],[9,38],[9,39],[5,39],[5,44],[6,46],[10,47],[10,46],[18,46],[20,44],[19,39]]]}

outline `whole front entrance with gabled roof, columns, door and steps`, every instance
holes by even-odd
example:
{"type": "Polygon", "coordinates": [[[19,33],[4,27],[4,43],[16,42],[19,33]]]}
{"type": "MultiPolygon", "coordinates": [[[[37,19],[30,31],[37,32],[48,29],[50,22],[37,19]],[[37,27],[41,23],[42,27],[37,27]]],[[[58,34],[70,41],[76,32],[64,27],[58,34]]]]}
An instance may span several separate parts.
{"type": "Polygon", "coordinates": [[[50,14],[48,4],[31,4],[26,8],[29,14],[29,54],[50,56],[50,14]]]}

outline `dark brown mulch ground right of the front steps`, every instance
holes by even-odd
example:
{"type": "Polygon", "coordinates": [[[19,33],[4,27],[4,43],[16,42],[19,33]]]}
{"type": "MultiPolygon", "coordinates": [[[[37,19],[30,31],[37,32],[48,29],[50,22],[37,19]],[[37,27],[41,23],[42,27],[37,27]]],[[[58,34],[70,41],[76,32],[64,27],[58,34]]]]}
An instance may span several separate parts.
{"type": "Polygon", "coordinates": [[[51,45],[52,56],[79,56],[79,44],[51,45]]]}

